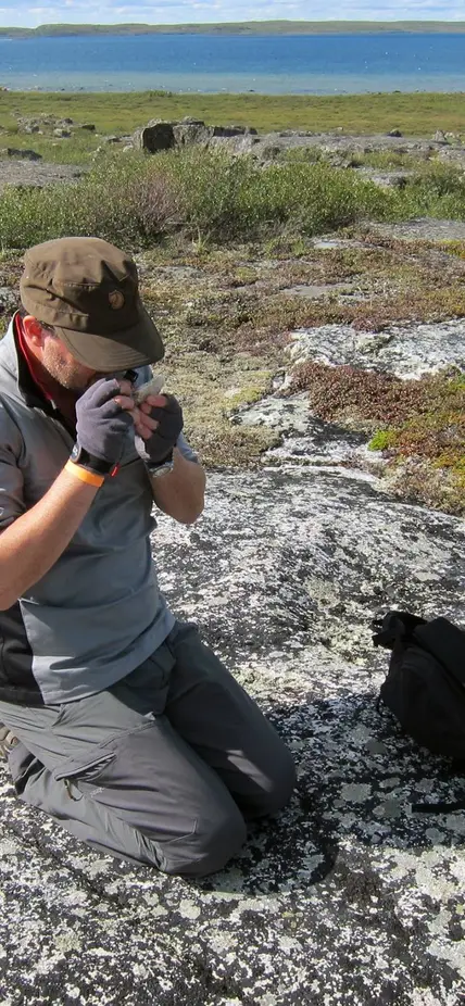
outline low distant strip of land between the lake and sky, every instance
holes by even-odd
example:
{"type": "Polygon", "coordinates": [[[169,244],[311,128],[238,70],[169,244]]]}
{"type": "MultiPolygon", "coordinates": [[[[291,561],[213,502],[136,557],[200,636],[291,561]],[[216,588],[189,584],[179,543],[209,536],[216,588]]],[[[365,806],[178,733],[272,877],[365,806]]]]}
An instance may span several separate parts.
{"type": "Polygon", "coordinates": [[[463,35],[465,21],[250,21],[221,24],[53,24],[37,28],[0,27],[0,38],[83,35],[463,35]]]}

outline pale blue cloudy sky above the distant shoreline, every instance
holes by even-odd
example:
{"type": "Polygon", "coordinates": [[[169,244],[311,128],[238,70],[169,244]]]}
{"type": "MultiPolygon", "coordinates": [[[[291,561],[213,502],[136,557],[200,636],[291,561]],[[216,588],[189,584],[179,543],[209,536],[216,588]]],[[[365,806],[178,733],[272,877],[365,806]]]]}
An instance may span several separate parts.
{"type": "Polygon", "coordinates": [[[464,0],[0,0],[0,25],[55,22],[114,24],[181,24],[192,22],[264,21],[463,21],[464,0]]]}

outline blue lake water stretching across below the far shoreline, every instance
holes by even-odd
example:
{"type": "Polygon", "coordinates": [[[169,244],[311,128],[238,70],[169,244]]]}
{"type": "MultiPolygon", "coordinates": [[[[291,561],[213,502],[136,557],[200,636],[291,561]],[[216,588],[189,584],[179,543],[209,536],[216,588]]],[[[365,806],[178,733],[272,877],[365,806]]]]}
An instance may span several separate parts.
{"type": "Polygon", "coordinates": [[[465,34],[1,39],[0,85],[66,91],[465,92],[465,34]]]}

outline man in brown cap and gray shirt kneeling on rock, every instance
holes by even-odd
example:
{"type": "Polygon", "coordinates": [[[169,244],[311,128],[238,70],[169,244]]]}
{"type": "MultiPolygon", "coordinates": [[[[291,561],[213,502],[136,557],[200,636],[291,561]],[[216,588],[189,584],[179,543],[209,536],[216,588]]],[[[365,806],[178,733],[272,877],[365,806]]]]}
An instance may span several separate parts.
{"type": "Polygon", "coordinates": [[[161,338],[134,262],[97,238],[30,249],[21,301],[0,343],[0,720],[16,793],[96,850],[213,872],[248,820],[286,804],[294,768],[159,591],[153,501],[191,524],[205,485],[177,400],[137,404],[161,338]]]}

